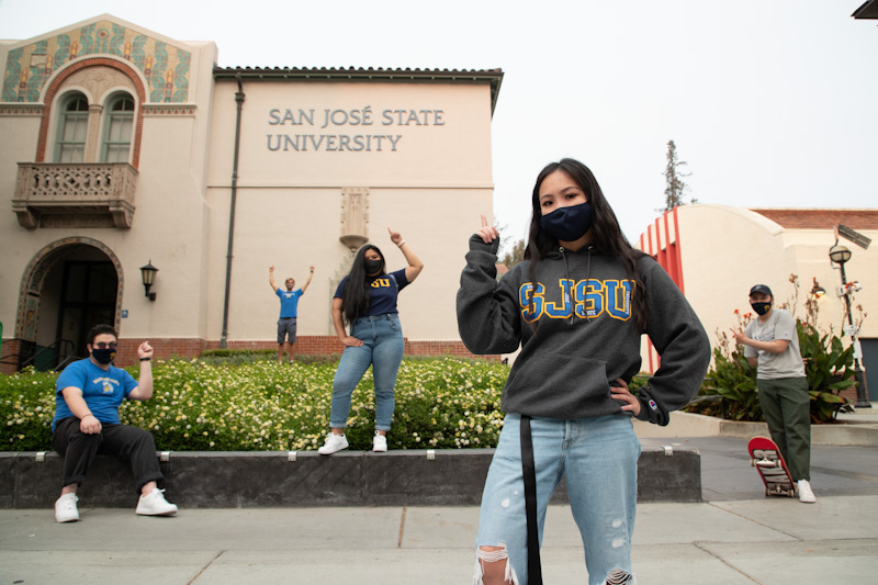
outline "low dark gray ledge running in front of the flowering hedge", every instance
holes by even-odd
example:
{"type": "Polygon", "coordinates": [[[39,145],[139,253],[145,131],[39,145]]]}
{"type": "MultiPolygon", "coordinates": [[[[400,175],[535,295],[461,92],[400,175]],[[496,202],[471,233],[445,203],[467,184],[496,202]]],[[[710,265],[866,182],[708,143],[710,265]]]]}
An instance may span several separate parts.
{"type": "MultiPolygon", "coordinates": [[[[493,449],[320,457],[286,452],[172,452],[161,461],[168,499],[181,508],[479,505],[493,449]]],[[[52,507],[64,460],[55,452],[0,452],[0,508],[52,507]]],[[[641,502],[701,502],[696,449],[644,449],[638,463],[641,502]]],[[[552,502],[567,502],[566,486],[552,502]]],[[[137,493],[127,463],[99,457],[79,488],[83,505],[127,508],[137,493]]]]}

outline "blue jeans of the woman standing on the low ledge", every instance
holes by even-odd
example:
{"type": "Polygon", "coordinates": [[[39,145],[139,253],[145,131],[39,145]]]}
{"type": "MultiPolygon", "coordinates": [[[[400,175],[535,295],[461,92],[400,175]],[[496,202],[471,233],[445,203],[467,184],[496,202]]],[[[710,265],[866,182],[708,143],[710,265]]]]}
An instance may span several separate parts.
{"type": "Polygon", "coordinates": [[[394,386],[399,363],[403,361],[403,328],[399,315],[387,313],[360,317],[350,327],[350,335],[361,339],[360,347],[346,347],[333,381],[333,407],[329,426],[345,428],[350,414],[350,396],[372,367],[375,382],[375,429],[390,430],[393,420],[394,386]]]}

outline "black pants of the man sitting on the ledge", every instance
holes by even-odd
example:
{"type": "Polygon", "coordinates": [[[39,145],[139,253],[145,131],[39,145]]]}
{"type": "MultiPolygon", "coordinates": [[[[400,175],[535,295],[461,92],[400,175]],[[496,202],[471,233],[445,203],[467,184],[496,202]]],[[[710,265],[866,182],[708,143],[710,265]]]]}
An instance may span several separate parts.
{"type": "Polygon", "coordinates": [[[127,425],[101,423],[101,432],[86,435],[75,416],[60,420],[52,435],[52,447],[64,455],[64,483],[81,485],[94,455],[115,455],[131,462],[137,493],[149,482],[165,479],[156,457],[156,441],[149,431],[127,425]]]}

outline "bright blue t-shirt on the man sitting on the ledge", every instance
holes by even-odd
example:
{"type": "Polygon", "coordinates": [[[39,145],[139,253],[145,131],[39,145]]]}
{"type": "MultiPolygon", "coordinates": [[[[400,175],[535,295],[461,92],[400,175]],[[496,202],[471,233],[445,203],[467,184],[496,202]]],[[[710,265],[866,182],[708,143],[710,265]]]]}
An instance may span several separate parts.
{"type": "Polygon", "coordinates": [[[67,417],[74,416],[61,391],[66,387],[78,387],[82,391],[82,398],[101,423],[119,424],[119,407],[122,400],[137,387],[137,381],[125,370],[110,365],[102,370],[92,363],[90,358],[75,361],[64,369],[58,381],[55,382],[55,418],[52,420],[52,430],[55,425],[67,417]]]}

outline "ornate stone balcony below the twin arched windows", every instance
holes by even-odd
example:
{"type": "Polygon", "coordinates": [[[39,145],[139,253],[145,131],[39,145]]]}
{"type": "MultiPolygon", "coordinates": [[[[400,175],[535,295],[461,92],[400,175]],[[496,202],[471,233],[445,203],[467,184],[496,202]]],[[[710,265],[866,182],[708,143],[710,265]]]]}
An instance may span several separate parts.
{"type": "Polygon", "coordinates": [[[23,227],[131,227],[137,169],[127,162],[19,162],[12,211],[23,227]]]}

